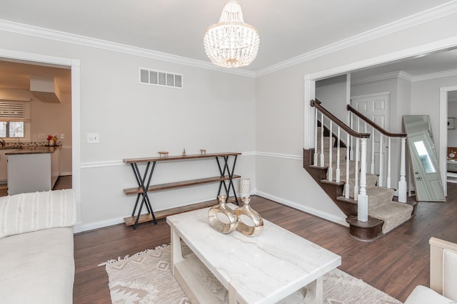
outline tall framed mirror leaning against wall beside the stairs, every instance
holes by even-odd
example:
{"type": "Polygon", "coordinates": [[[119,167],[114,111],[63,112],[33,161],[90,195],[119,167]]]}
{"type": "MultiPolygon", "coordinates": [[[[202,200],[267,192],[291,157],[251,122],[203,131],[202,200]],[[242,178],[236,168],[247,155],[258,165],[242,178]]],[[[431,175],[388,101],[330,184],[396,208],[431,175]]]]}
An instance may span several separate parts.
{"type": "Polygon", "coordinates": [[[404,115],[417,201],[446,201],[428,115],[404,115]]]}

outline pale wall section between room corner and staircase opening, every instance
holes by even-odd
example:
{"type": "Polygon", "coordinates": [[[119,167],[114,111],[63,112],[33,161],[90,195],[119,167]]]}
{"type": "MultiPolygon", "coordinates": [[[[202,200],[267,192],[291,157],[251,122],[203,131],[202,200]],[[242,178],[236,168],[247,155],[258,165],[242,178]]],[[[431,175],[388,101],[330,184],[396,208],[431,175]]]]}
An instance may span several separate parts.
{"type": "Polygon", "coordinates": [[[325,219],[343,212],[303,168],[303,66],[256,78],[257,193],[325,219]]]}

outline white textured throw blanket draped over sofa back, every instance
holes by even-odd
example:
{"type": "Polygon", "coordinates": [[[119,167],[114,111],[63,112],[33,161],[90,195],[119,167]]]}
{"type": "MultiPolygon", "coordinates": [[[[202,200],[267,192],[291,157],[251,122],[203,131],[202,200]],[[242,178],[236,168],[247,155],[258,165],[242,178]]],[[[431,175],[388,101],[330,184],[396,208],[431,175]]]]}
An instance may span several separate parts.
{"type": "Polygon", "coordinates": [[[0,239],[76,223],[73,189],[0,197],[0,239]]]}

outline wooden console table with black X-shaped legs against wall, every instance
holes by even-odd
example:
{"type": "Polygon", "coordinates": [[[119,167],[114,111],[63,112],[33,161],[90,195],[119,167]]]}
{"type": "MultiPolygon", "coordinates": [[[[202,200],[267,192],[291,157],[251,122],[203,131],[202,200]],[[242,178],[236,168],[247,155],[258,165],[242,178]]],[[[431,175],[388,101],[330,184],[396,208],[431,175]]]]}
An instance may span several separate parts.
{"type": "Polygon", "coordinates": [[[191,154],[191,155],[180,155],[180,156],[170,156],[170,157],[146,157],[146,158],[133,158],[133,159],[123,159],[123,162],[130,164],[132,170],[134,171],[134,176],[138,187],[124,189],[124,194],[136,194],[136,202],[134,210],[131,213],[130,217],[124,219],[127,226],[136,226],[140,223],[146,221],[154,221],[154,224],[157,224],[156,216],[152,209],[151,200],[149,199],[148,192],[160,191],[165,189],[173,189],[179,187],[194,186],[197,184],[207,184],[211,182],[219,182],[219,192],[216,195],[221,194],[221,189],[224,186],[227,197],[229,197],[230,190],[233,191],[233,196],[235,196],[235,203],[238,205],[238,197],[236,196],[235,187],[233,186],[233,179],[239,179],[241,176],[234,175],[236,158],[241,153],[238,152],[225,152],[225,153],[212,153],[212,154],[191,154]],[[202,179],[191,179],[180,182],[171,182],[167,184],[153,184],[151,185],[152,174],[156,167],[157,162],[171,162],[171,161],[181,161],[187,159],[207,159],[207,158],[216,158],[216,162],[219,167],[220,175],[217,177],[206,177],[202,179]],[[233,157],[233,165],[229,167],[229,157],[233,157]],[[223,162],[221,162],[221,160],[223,162]],[[146,169],[143,173],[140,172],[138,164],[146,163],[146,169]],[[226,181],[229,181],[229,184],[226,184],[226,181]],[[141,203],[139,203],[141,198],[141,203]],[[141,214],[143,206],[146,206],[148,210],[147,214],[141,214]],[[137,211],[138,208],[138,211],[137,211]]]}

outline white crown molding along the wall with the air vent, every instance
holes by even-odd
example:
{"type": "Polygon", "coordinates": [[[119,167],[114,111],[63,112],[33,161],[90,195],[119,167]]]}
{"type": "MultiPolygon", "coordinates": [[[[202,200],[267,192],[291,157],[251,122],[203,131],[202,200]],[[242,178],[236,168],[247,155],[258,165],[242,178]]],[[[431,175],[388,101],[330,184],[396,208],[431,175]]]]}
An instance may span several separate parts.
{"type": "Polygon", "coordinates": [[[135,46],[128,46],[122,43],[115,43],[111,41],[104,41],[101,39],[75,35],[72,33],[65,33],[62,31],[55,31],[49,28],[40,28],[38,26],[30,26],[24,23],[16,23],[0,19],[0,30],[8,31],[11,33],[19,33],[22,35],[34,36],[39,38],[51,39],[54,41],[61,41],[66,43],[78,44],[80,46],[89,46],[91,48],[100,48],[106,51],[115,51],[119,53],[126,53],[134,56],[141,56],[145,58],[166,61],[170,63],[178,63],[182,65],[189,65],[195,68],[204,68],[206,70],[216,70],[218,72],[230,73],[246,77],[255,77],[255,73],[243,69],[227,69],[220,68],[212,63],[205,61],[198,61],[196,59],[176,56],[168,53],[161,53],[158,51],[151,51],[146,48],[137,48],[135,46]]]}

